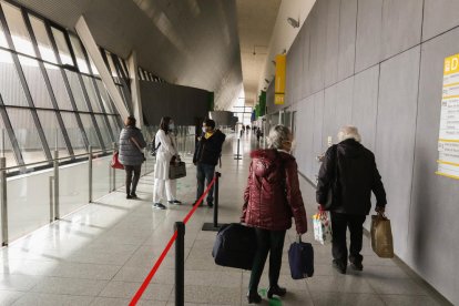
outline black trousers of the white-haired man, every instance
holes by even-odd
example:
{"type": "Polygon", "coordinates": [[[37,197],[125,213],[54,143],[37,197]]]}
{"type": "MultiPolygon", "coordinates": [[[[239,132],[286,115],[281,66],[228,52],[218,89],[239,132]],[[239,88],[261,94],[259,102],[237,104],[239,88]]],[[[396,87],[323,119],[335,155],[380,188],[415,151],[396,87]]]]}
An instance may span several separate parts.
{"type": "Polygon", "coordinates": [[[364,235],[365,215],[347,215],[332,212],[332,254],[333,258],[343,265],[347,259],[351,263],[361,263],[361,241],[364,235]],[[347,252],[346,232],[350,232],[349,253],[347,252]]]}

